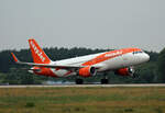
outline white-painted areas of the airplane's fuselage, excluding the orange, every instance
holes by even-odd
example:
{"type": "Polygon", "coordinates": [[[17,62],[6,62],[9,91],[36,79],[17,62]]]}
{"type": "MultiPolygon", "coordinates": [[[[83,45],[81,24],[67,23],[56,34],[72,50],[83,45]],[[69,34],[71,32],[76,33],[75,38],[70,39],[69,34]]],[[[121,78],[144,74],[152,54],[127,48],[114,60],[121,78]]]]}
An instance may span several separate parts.
{"type": "MultiPolygon", "coordinates": [[[[75,58],[69,58],[69,59],[64,59],[64,60],[57,60],[57,61],[52,61],[51,64],[53,65],[75,65],[75,66],[81,66],[81,64],[85,64],[88,60],[92,60],[97,56],[105,54],[105,53],[99,53],[99,54],[92,54],[92,55],[87,55],[87,56],[80,56],[80,57],[75,57],[75,58]]],[[[109,58],[105,61],[100,61],[98,64],[92,65],[94,67],[99,67],[97,70],[98,72],[102,71],[108,71],[108,70],[116,70],[124,67],[130,67],[130,66],[135,66],[142,63],[145,63],[150,59],[150,56],[146,53],[138,53],[133,54],[127,53],[123,55],[119,55],[113,58],[109,58]]],[[[66,69],[52,69],[52,71],[57,75],[57,77],[66,77],[68,70],[66,69]]],[[[67,76],[75,76],[76,72],[70,72],[67,76]]]]}

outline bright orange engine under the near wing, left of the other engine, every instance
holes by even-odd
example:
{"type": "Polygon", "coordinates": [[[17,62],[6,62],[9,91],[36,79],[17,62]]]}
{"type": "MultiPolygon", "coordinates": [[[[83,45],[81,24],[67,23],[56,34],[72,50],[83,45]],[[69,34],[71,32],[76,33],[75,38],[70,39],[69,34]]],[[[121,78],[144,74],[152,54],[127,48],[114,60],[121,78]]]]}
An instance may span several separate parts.
{"type": "Polygon", "coordinates": [[[78,70],[79,76],[81,77],[90,77],[90,76],[95,76],[96,75],[96,68],[95,67],[85,67],[85,68],[80,68],[78,70]]]}

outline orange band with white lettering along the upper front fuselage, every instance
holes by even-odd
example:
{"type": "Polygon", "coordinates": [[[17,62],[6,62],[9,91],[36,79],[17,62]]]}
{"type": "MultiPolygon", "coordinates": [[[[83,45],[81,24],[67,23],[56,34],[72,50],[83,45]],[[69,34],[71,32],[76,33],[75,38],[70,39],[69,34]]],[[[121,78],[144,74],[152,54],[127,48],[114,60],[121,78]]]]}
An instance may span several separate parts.
{"type": "Polygon", "coordinates": [[[101,61],[105,61],[105,60],[108,60],[108,59],[111,59],[111,58],[114,58],[114,57],[118,57],[118,56],[121,56],[121,55],[124,55],[128,53],[139,52],[139,50],[141,50],[141,49],[140,48],[123,48],[123,49],[107,52],[107,53],[103,53],[103,54],[97,56],[96,58],[94,58],[89,61],[84,63],[82,66],[96,65],[101,61]]]}

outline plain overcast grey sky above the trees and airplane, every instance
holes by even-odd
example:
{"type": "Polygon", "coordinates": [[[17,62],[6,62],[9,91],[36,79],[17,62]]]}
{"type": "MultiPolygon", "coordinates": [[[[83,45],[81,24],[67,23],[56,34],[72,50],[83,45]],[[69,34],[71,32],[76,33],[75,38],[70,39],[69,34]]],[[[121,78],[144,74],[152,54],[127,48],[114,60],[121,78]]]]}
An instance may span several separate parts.
{"type": "Polygon", "coordinates": [[[165,47],[165,0],[0,0],[0,50],[165,47]]]}

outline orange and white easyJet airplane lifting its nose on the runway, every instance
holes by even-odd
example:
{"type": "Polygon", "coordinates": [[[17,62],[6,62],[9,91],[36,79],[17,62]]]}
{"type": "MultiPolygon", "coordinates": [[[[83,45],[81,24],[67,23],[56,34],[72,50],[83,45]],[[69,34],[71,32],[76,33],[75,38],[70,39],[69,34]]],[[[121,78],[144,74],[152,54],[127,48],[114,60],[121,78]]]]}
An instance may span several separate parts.
{"type": "Polygon", "coordinates": [[[38,46],[34,38],[29,39],[30,49],[34,63],[20,61],[12,54],[14,61],[19,65],[31,66],[29,72],[47,77],[69,77],[76,76],[76,84],[82,84],[80,78],[94,77],[102,72],[102,84],[109,83],[108,71],[114,71],[120,76],[134,76],[134,66],[146,63],[150,56],[140,48],[123,48],[105,53],[79,56],[53,61],[38,46]]]}

